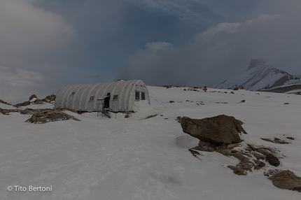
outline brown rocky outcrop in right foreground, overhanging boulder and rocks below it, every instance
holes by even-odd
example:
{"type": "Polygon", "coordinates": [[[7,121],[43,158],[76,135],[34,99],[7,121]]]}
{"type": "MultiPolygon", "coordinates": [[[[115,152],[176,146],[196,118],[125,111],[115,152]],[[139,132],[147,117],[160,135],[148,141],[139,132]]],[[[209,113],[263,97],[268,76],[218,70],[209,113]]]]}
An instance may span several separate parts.
{"type": "MultiPolygon", "coordinates": [[[[200,139],[198,146],[189,149],[197,159],[202,160],[202,151],[219,152],[227,157],[235,157],[239,160],[238,164],[227,166],[232,169],[233,173],[247,176],[254,170],[263,169],[263,174],[269,176],[276,187],[301,192],[300,177],[288,170],[271,169],[271,167],[274,168],[281,164],[278,157],[281,156],[279,150],[262,145],[247,144],[240,140],[239,133],[246,134],[246,131],[241,127],[242,122],[236,120],[235,117],[218,115],[202,120],[178,117],[177,120],[181,122],[181,127],[186,134],[200,139]]],[[[279,138],[263,140],[287,144],[279,138]]]]}

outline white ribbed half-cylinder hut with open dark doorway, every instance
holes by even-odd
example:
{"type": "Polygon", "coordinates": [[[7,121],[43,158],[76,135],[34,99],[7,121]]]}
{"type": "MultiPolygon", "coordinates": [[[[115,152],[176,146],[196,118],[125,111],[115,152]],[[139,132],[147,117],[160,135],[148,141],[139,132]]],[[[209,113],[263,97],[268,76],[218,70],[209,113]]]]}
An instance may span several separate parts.
{"type": "MultiPolygon", "coordinates": [[[[146,85],[142,80],[118,80],[111,83],[67,85],[59,90],[55,108],[71,108],[84,112],[134,112],[139,101],[150,103],[146,85]]],[[[140,103],[141,104],[141,103],[140,103]]]]}

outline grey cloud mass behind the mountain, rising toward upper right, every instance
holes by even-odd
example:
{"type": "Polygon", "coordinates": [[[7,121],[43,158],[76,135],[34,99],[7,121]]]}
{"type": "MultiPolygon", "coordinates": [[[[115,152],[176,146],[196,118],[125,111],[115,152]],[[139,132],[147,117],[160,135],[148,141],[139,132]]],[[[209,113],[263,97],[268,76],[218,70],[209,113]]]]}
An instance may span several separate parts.
{"type": "Polygon", "coordinates": [[[275,1],[273,12],[280,14],[217,24],[180,48],[171,44],[168,49],[138,50],[127,59],[119,78],[140,78],[148,85],[215,85],[245,71],[255,58],[284,71],[300,72],[300,1],[289,2],[275,1]]]}

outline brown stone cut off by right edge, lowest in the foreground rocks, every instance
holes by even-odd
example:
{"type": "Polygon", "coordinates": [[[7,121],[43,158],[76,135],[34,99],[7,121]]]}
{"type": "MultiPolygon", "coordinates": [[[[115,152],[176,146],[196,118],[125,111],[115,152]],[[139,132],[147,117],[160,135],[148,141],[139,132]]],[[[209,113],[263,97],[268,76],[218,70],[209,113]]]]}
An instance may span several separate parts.
{"type": "Polygon", "coordinates": [[[292,171],[286,170],[269,177],[273,185],[284,190],[295,190],[301,192],[301,178],[295,176],[292,171]]]}

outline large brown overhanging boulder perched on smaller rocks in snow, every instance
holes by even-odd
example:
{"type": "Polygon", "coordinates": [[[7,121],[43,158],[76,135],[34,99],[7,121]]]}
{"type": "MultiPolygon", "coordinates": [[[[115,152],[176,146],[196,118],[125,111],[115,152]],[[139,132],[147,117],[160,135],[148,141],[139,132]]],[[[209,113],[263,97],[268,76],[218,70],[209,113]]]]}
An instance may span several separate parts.
{"type": "Polygon", "coordinates": [[[202,120],[182,117],[181,127],[183,132],[207,143],[216,145],[231,144],[241,142],[239,133],[246,131],[241,127],[241,121],[235,117],[218,115],[207,117],[202,120]]]}

